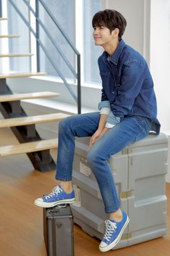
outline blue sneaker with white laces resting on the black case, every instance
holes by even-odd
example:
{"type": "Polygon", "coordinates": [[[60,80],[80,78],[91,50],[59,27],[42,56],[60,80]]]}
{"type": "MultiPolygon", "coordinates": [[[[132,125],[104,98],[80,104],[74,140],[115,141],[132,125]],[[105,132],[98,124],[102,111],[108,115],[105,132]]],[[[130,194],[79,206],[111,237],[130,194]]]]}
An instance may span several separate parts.
{"type": "Polygon", "coordinates": [[[55,205],[71,204],[75,202],[75,191],[67,194],[61,186],[56,186],[51,194],[45,195],[35,200],[35,205],[39,207],[54,207],[55,205]]]}

